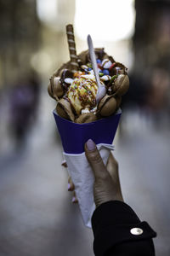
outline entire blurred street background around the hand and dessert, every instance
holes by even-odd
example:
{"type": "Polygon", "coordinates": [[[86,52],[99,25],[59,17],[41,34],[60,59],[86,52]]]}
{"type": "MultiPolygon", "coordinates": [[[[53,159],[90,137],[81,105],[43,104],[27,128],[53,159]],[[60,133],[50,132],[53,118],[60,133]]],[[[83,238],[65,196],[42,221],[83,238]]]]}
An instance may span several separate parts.
{"type": "Polygon", "coordinates": [[[54,70],[94,47],[128,67],[114,152],[124,200],[170,255],[170,2],[0,0],[0,256],[94,255],[93,233],[67,191],[48,96],[54,70]]]}

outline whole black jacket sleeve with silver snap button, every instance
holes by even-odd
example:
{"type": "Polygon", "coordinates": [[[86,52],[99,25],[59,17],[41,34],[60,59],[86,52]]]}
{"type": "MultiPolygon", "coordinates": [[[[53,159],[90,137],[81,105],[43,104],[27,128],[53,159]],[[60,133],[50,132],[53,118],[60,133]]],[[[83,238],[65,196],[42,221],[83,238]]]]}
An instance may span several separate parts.
{"type": "Polygon", "coordinates": [[[96,256],[154,256],[156,232],[122,201],[108,201],[93,214],[96,256]]]}

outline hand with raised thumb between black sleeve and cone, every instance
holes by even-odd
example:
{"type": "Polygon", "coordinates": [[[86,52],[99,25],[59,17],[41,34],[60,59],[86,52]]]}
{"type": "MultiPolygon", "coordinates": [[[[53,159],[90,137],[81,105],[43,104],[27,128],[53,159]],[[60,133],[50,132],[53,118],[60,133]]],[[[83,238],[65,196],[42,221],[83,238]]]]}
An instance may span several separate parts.
{"type": "Polygon", "coordinates": [[[91,139],[85,144],[85,154],[94,172],[94,202],[96,207],[106,201],[123,201],[118,164],[113,155],[110,154],[105,167],[99,151],[91,139]]]}

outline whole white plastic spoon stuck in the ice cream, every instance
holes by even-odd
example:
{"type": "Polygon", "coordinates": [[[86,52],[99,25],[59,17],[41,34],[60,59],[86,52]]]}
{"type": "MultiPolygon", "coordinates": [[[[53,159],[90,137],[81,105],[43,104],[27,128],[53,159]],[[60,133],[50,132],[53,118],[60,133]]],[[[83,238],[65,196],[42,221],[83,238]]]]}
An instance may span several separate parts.
{"type": "Polygon", "coordinates": [[[98,85],[98,92],[96,95],[96,102],[98,103],[101,100],[101,98],[103,98],[103,96],[105,96],[106,90],[105,90],[105,85],[100,84],[98,66],[97,66],[97,62],[96,62],[96,56],[94,53],[94,45],[93,45],[92,38],[90,35],[88,35],[88,49],[89,49],[90,59],[92,61],[92,67],[94,69],[94,76],[96,79],[96,84],[98,85]]]}

